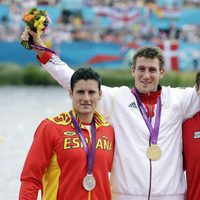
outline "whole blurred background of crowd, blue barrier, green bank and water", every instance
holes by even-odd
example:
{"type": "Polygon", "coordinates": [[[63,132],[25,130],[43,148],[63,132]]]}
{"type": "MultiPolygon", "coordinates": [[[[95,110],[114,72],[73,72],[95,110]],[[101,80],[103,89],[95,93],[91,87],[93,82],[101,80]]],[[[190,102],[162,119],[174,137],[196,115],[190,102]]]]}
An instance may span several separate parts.
{"type": "Polygon", "coordinates": [[[193,86],[200,70],[200,0],[0,0],[2,200],[18,199],[20,173],[41,120],[71,107],[35,53],[20,45],[21,17],[32,7],[51,18],[46,45],[72,68],[92,65],[106,85],[132,87],[131,58],[144,45],[163,49],[164,85],[193,86]]]}

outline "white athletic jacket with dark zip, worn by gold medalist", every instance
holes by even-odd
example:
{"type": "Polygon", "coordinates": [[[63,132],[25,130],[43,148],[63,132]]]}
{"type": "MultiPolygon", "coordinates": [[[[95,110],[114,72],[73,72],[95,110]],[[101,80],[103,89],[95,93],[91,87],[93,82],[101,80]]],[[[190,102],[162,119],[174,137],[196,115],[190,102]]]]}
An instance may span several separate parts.
{"type": "MultiPolygon", "coordinates": [[[[73,70],[53,55],[43,65],[66,90],[73,70]]],[[[184,200],[182,122],[200,110],[194,88],[162,87],[158,161],[146,156],[149,130],[137,101],[126,86],[103,86],[99,112],[115,129],[115,155],[111,174],[113,200],[184,200]]],[[[155,108],[156,109],[156,108],[155,108]]],[[[154,125],[154,118],[152,120],[154,125]]]]}

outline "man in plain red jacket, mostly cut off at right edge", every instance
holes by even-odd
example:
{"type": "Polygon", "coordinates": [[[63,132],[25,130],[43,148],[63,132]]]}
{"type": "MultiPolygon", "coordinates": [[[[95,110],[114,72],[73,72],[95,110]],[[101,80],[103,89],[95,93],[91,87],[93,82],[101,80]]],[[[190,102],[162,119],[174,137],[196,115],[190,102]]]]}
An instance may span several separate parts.
{"type": "MultiPolygon", "coordinates": [[[[196,76],[200,95],[200,72],[196,76]]],[[[200,199],[200,112],[183,124],[183,155],[187,177],[187,200],[200,199]]]]}

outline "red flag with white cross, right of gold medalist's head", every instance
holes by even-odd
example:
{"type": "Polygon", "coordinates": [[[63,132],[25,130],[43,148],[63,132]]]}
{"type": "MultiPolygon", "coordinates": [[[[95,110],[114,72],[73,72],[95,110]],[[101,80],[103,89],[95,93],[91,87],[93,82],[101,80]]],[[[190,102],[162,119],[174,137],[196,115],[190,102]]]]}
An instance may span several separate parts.
{"type": "Polygon", "coordinates": [[[165,67],[174,71],[179,70],[179,44],[175,40],[166,40],[158,46],[163,50],[165,57],[165,67]]]}

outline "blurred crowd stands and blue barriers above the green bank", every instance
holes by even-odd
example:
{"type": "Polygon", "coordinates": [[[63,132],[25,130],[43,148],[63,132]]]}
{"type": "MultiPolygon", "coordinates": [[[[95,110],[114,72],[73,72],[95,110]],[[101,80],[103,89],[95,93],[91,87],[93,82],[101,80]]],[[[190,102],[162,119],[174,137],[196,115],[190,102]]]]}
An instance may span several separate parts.
{"type": "Polygon", "coordinates": [[[0,0],[0,63],[37,63],[19,45],[33,6],[48,11],[46,44],[72,67],[127,68],[138,47],[156,45],[167,69],[200,69],[200,0],[0,0]]]}

